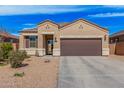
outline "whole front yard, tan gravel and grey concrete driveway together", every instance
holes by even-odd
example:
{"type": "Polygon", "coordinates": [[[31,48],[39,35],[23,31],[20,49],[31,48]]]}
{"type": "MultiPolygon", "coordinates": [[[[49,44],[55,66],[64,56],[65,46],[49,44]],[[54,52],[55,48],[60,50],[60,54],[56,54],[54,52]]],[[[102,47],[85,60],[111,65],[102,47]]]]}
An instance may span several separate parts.
{"type": "Polygon", "coordinates": [[[18,68],[0,64],[0,88],[124,87],[123,66],[117,55],[31,56],[18,68]]]}

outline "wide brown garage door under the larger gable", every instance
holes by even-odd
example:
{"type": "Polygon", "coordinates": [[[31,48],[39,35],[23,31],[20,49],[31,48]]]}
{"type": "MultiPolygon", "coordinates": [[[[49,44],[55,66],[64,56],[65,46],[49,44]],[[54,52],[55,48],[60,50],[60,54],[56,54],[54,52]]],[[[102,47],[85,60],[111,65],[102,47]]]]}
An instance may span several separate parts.
{"type": "Polygon", "coordinates": [[[61,39],[61,56],[101,56],[101,39],[61,39]]]}

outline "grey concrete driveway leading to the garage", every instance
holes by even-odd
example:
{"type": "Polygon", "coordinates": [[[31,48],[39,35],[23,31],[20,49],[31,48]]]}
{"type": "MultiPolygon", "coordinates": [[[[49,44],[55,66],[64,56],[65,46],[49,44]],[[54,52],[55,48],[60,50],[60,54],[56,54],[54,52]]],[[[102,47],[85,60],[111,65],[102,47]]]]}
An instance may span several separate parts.
{"type": "Polygon", "coordinates": [[[124,62],[102,56],[61,57],[58,87],[124,87],[124,62]]]}

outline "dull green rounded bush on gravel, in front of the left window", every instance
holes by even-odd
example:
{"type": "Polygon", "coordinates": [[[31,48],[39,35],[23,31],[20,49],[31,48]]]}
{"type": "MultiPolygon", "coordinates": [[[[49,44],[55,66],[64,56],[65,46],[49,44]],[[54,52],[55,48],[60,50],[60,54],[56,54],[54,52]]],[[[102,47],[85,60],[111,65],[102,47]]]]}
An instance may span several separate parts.
{"type": "Polygon", "coordinates": [[[12,68],[18,68],[22,66],[23,60],[27,58],[25,51],[12,51],[9,54],[9,62],[12,68]]]}

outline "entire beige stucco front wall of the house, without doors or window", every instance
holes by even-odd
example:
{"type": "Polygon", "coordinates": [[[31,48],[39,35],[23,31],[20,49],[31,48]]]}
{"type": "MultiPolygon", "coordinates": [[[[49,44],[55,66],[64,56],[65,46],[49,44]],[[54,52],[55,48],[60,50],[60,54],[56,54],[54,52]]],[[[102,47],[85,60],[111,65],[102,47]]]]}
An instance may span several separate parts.
{"type": "MultiPolygon", "coordinates": [[[[51,22],[44,22],[38,25],[38,33],[22,33],[20,35],[20,48],[24,48],[24,38],[25,35],[38,35],[38,48],[39,54],[41,56],[45,55],[45,48],[43,47],[43,36],[53,35],[53,39],[56,38],[57,42],[54,42],[53,55],[60,55],[60,38],[101,38],[102,39],[102,54],[109,55],[109,41],[108,41],[108,31],[105,29],[94,26],[83,20],[74,22],[63,28],[58,27],[58,25],[51,22]],[[82,25],[83,29],[79,29],[82,25]],[[46,29],[46,27],[49,27],[46,29]],[[107,36],[104,40],[105,35],[107,36]]],[[[28,52],[29,49],[28,49],[28,52]]],[[[34,53],[34,52],[32,52],[34,53]]]]}

